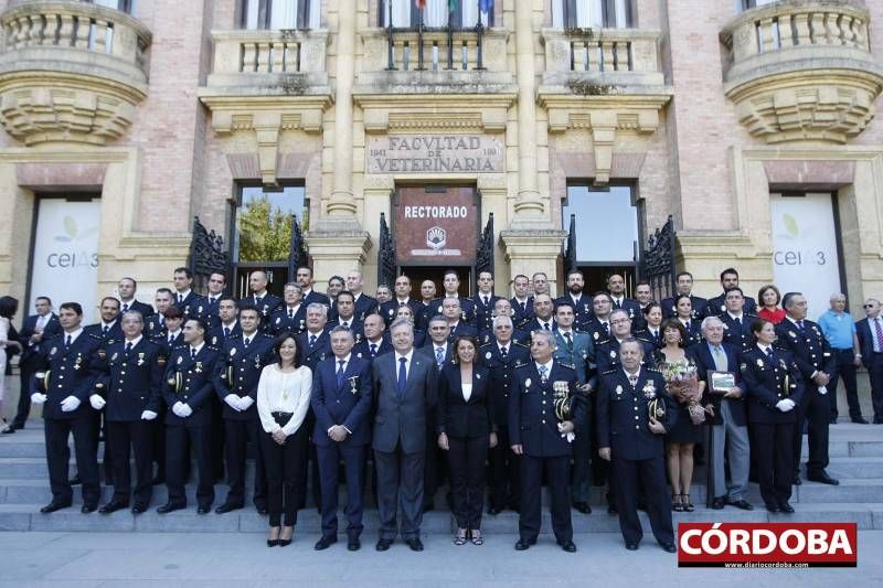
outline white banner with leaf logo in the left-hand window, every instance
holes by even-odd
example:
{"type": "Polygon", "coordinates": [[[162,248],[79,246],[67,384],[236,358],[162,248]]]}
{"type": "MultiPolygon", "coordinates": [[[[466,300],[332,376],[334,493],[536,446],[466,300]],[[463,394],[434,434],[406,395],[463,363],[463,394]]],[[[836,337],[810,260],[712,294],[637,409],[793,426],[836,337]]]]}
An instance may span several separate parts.
{"type": "Polygon", "coordinates": [[[34,260],[31,268],[32,312],[39,296],[83,306],[83,324],[97,320],[99,199],[67,201],[41,199],[36,215],[34,260]]]}

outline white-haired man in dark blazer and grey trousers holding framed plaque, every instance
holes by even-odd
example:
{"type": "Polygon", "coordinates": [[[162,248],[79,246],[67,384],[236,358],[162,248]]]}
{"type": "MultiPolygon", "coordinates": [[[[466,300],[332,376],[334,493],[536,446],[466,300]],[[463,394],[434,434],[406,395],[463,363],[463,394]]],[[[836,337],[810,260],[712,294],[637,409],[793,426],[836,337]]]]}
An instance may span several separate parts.
{"type": "Polygon", "coordinates": [[[702,404],[711,408],[711,507],[721,510],[725,504],[731,504],[743,511],[752,511],[754,506],[745,500],[751,449],[745,416],[745,384],[740,382],[740,350],[724,343],[724,325],[716,317],[706,317],[702,321],[702,336],[705,341],[693,350],[699,378],[705,382],[702,404]],[[731,372],[736,385],[726,391],[713,389],[710,371],[731,372]],[[730,484],[726,483],[724,450],[730,462],[730,484]]]}

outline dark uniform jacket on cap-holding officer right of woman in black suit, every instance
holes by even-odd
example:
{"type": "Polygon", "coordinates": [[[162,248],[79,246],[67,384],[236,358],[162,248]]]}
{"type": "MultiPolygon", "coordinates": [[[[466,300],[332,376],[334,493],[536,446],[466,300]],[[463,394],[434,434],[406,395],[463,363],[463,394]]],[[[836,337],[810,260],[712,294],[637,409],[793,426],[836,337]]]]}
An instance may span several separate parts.
{"type": "Polygon", "coordinates": [[[530,360],[515,370],[514,379],[509,396],[509,443],[521,445],[524,453],[531,457],[570,456],[572,443],[561,436],[557,428],[555,392],[566,391],[572,398],[571,415],[566,420],[573,421],[578,430],[586,418],[586,403],[576,389],[576,371],[553,361],[543,383],[536,363],[530,360]]]}

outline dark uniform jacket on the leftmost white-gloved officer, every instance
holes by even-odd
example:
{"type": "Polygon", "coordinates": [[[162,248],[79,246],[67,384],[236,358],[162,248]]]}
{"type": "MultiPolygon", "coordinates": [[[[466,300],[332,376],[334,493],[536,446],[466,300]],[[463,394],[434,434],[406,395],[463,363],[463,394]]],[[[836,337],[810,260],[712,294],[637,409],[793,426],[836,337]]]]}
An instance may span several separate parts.
{"type": "Polygon", "coordinates": [[[40,344],[39,359],[34,362],[31,394],[46,395],[43,418],[74,419],[95,414],[88,398],[100,375],[98,351],[104,342],[100,338],[83,332],[65,349],[65,333],[44,340],[40,344]],[[76,396],[81,404],[76,410],[62,410],[62,400],[76,396]]]}

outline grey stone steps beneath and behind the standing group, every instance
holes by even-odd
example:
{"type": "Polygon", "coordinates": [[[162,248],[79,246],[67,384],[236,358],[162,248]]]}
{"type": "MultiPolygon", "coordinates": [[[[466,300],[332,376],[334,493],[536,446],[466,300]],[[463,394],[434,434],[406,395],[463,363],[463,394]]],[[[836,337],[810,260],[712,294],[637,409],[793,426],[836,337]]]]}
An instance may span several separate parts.
{"type": "MultiPolygon", "coordinates": [[[[806,442],[804,443],[806,451],[806,442]]],[[[692,513],[673,513],[678,521],[740,521],[740,522],[783,522],[783,521],[850,521],[858,523],[860,530],[883,530],[883,426],[853,425],[843,423],[831,427],[831,463],[829,473],[840,479],[839,487],[830,487],[804,481],[795,487],[791,503],[796,509],[792,515],[769,514],[763,507],[756,484],[751,484],[747,499],[755,505],[751,512],[727,506],[723,511],[704,507],[704,468],[698,468],[691,498],[696,510],[692,513]]],[[[251,463],[249,463],[251,466],[251,463]]],[[[72,472],[74,466],[71,467],[72,472]]],[[[195,470],[195,468],[194,468],[195,470]]],[[[52,514],[41,514],[40,507],[51,500],[46,479],[43,430],[40,420],[31,420],[28,428],[15,435],[0,436],[0,530],[2,531],[128,531],[128,532],[262,532],[267,521],[251,505],[242,511],[200,516],[195,513],[194,485],[188,484],[189,507],[167,515],[155,512],[156,506],[166,502],[166,487],[153,489],[152,509],[134,516],[129,511],[118,511],[111,515],[93,513],[81,514],[79,489],[74,489],[74,506],[52,514]]],[[[248,472],[251,479],[251,471],[248,472]]],[[[226,485],[215,487],[215,505],[226,495],[226,485]]],[[[103,502],[108,500],[110,488],[103,487],[103,502]]],[[[370,494],[370,491],[369,491],[370,494]]],[[[368,496],[365,531],[373,535],[379,526],[373,498],[368,496]]],[[[345,493],[341,489],[341,504],[345,493]]],[[[616,516],[607,514],[604,489],[593,492],[594,512],[583,515],[573,511],[576,533],[618,533],[616,516]]],[[[436,496],[437,509],[424,516],[424,533],[453,532],[454,522],[447,512],[444,491],[436,496]],[[440,507],[440,509],[439,509],[440,507]]],[[[649,523],[641,513],[646,530],[649,523]]],[[[340,528],[345,528],[341,521],[340,528]]],[[[497,516],[486,515],[482,521],[486,533],[512,534],[518,530],[518,514],[504,512],[497,516]]],[[[301,510],[298,515],[299,533],[319,534],[320,520],[315,507],[301,510]]],[[[549,513],[543,513],[543,533],[551,533],[549,513]]]]}

